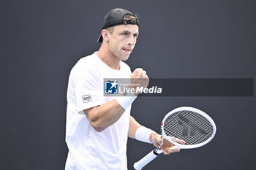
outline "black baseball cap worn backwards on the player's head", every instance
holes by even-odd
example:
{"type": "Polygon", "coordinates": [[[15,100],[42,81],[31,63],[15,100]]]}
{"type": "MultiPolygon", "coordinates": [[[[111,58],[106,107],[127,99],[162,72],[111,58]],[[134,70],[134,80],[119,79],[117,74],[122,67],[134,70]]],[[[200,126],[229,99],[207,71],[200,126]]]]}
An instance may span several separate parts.
{"type": "MultiPolygon", "coordinates": [[[[112,26],[118,26],[121,24],[124,24],[124,25],[133,24],[133,25],[139,26],[138,18],[135,21],[124,20],[124,15],[132,15],[137,18],[135,14],[132,14],[132,12],[127,11],[127,9],[121,9],[121,8],[112,9],[110,10],[110,12],[108,12],[107,15],[105,15],[102,29],[110,28],[112,26]]],[[[97,42],[102,42],[102,41],[103,41],[103,37],[102,37],[102,34],[100,34],[97,42]]]]}

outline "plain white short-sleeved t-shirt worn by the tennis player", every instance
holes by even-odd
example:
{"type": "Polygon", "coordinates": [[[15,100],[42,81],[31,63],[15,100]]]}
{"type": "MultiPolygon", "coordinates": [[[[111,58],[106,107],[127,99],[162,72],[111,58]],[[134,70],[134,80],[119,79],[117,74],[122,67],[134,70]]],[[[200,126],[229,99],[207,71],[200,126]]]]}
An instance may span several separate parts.
{"type": "Polygon", "coordinates": [[[103,96],[104,78],[129,78],[131,69],[122,62],[111,69],[97,52],[81,58],[72,68],[67,89],[66,170],[127,169],[127,135],[131,106],[119,120],[102,132],[92,128],[84,109],[114,99],[103,96]]]}

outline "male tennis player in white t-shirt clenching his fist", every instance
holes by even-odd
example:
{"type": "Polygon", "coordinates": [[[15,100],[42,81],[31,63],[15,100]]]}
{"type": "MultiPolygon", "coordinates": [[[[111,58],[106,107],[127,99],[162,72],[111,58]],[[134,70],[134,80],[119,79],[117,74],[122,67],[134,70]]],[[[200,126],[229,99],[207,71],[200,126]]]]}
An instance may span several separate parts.
{"type": "Polygon", "coordinates": [[[81,58],[72,68],[67,89],[66,170],[127,169],[127,137],[160,145],[165,154],[179,151],[170,150],[169,142],[130,115],[137,93],[103,96],[104,78],[138,78],[133,83],[147,87],[146,71],[131,72],[123,62],[132,53],[138,34],[136,15],[112,9],[105,15],[99,51],[81,58]]]}

